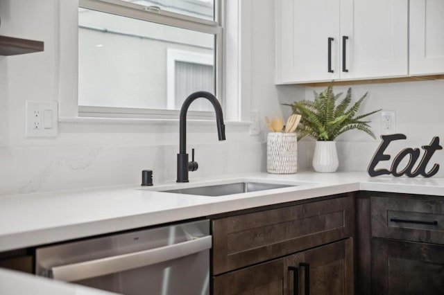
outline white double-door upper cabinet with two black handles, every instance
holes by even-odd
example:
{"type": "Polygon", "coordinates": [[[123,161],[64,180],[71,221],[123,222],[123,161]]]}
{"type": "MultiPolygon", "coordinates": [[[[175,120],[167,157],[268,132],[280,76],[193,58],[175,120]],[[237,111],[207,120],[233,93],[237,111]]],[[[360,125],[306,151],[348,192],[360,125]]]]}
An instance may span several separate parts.
{"type": "Polygon", "coordinates": [[[408,75],[407,0],[277,0],[276,82],[408,75]]]}

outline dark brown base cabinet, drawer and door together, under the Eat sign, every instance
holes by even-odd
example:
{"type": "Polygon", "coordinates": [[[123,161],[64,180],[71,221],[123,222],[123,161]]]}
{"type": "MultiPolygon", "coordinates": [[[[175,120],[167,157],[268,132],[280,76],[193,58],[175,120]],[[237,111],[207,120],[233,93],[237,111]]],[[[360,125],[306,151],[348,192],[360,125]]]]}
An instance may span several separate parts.
{"type": "Polygon", "coordinates": [[[370,224],[371,294],[443,294],[442,198],[372,193],[370,224]]]}

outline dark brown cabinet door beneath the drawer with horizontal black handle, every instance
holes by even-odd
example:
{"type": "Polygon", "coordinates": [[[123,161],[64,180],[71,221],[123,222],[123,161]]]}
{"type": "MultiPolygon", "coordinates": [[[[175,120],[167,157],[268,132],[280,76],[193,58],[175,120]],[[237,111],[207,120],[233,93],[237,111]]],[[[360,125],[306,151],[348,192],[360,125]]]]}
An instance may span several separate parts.
{"type": "Polygon", "coordinates": [[[442,295],[444,245],[372,239],[372,294],[442,295]]]}

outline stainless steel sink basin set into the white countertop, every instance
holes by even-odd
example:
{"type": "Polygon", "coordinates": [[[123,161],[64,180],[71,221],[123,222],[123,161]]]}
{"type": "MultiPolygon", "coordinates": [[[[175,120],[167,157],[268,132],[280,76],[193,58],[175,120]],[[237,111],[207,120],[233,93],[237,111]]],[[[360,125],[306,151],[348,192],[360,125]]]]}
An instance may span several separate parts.
{"type": "Polygon", "coordinates": [[[199,186],[197,188],[179,188],[176,190],[164,190],[165,193],[203,195],[208,197],[219,197],[223,195],[234,195],[239,193],[257,192],[259,190],[272,190],[274,188],[288,188],[289,184],[267,184],[263,182],[236,182],[234,184],[218,184],[211,186],[199,186]]]}

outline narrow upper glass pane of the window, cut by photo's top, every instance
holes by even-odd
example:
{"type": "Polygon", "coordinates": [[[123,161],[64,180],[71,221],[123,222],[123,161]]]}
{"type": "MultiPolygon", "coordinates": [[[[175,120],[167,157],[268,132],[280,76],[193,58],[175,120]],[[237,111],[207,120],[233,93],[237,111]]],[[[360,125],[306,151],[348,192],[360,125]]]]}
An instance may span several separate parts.
{"type": "Polygon", "coordinates": [[[162,10],[214,21],[214,0],[123,0],[142,6],[157,6],[162,10]]]}

